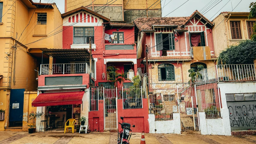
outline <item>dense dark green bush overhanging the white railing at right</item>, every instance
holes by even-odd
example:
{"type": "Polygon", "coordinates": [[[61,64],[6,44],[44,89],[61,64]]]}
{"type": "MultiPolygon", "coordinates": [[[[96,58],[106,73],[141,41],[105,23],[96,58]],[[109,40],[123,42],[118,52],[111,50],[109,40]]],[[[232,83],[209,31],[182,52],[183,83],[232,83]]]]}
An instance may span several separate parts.
{"type": "Polygon", "coordinates": [[[218,64],[253,64],[256,58],[256,41],[246,40],[222,50],[218,64]]]}

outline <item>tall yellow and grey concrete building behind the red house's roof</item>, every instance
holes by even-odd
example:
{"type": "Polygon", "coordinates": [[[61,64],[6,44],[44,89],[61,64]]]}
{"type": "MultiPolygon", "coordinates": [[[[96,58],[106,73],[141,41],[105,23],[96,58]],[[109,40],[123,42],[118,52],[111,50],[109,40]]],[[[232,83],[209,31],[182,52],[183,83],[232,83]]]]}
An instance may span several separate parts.
{"type": "Polygon", "coordinates": [[[161,0],[65,0],[65,12],[84,6],[111,21],[133,22],[139,17],[161,17],[161,0]]]}

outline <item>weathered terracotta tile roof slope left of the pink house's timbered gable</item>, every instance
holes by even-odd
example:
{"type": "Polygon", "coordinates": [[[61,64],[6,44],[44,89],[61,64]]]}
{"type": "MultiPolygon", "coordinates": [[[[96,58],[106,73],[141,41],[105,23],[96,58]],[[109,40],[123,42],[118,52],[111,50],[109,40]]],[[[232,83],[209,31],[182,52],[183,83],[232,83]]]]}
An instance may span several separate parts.
{"type": "Polygon", "coordinates": [[[134,21],[140,30],[153,30],[152,25],[178,26],[175,29],[183,30],[182,24],[190,17],[140,17],[134,21]]]}

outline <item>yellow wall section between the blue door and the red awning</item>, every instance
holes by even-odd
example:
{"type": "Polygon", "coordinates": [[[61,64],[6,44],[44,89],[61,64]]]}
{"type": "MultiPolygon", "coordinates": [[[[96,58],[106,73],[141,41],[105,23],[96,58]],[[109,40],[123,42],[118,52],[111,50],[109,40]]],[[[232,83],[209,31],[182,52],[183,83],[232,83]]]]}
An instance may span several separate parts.
{"type": "Polygon", "coordinates": [[[24,91],[22,131],[28,131],[28,125],[33,125],[33,121],[29,121],[28,114],[31,112],[36,112],[36,107],[32,107],[32,101],[34,101],[36,97],[37,91],[24,91]]]}

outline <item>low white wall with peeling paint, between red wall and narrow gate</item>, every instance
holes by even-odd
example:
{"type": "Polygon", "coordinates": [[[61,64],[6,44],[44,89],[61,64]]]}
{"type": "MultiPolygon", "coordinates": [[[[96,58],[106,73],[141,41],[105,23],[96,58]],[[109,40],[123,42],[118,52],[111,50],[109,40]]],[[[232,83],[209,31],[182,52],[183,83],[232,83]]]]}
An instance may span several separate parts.
{"type": "Polygon", "coordinates": [[[180,114],[173,113],[173,120],[155,121],[155,115],[149,114],[149,133],[181,134],[180,114]],[[155,131],[156,130],[156,131],[155,131]]]}

